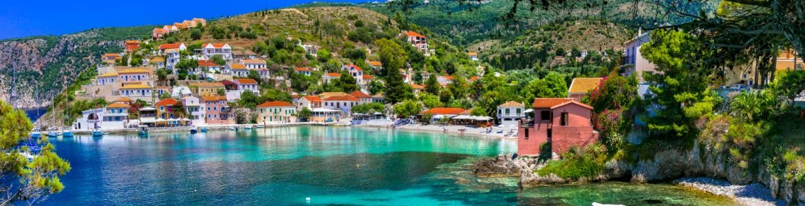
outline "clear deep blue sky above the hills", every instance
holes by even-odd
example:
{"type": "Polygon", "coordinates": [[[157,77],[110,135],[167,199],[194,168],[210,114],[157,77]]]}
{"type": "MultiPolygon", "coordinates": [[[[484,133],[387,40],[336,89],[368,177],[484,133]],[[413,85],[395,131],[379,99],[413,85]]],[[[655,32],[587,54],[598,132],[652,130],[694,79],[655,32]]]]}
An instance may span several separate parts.
{"type": "MultiPolygon", "coordinates": [[[[64,35],[97,27],[131,27],[215,18],[313,0],[6,0],[0,3],[0,39],[64,35]]],[[[367,2],[367,0],[319,0],[367,2]]]]}

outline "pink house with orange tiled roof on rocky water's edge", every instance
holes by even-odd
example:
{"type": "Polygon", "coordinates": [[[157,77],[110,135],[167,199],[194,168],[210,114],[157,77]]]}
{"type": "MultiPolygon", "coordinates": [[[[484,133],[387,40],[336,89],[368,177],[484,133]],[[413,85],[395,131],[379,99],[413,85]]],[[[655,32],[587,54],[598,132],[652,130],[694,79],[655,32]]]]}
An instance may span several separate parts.
{"type": "Polygon", "coordinates": [[[539,146],[545,142],[551,143],[551,151],[557,155],[570,146],[596,142],[598,133],[592,130],[592,106],[571,98],[537,98],[533,108],[534,120],[520,121],[518,155],[539,155],[539,146]]]}

